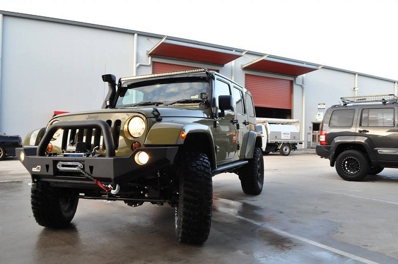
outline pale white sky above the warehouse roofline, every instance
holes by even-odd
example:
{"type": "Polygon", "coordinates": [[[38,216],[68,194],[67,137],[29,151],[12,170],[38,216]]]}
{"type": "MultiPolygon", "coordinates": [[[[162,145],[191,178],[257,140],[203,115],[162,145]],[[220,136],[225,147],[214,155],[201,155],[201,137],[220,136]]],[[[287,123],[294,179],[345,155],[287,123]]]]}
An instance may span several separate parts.
{"type": "Polygon", "coordinates": [[[0,0],[0,10],[168,35],[398,80],[398,0],[0,0]]]}

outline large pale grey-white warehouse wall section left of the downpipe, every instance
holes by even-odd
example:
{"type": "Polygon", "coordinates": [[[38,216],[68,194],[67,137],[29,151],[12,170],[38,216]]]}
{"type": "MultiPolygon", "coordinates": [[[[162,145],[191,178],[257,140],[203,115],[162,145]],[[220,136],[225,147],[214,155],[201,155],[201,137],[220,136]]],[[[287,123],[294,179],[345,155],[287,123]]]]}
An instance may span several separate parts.
{"type": "Polygon", "coordinates": [[[101,107],[101,75],[132,75],[133,35],[4,16],[0,132],[25,137],[54,110],[101,107]]]}

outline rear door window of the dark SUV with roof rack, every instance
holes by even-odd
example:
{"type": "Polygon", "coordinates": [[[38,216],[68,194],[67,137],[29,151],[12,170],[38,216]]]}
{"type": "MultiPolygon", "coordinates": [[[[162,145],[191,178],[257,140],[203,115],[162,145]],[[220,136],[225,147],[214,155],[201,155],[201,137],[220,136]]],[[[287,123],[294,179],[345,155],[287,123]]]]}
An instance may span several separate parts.
{"type": "Polygon", "coordinates": [[[361,126],[394,127],[394,108],[363,109],[361,126]]]}

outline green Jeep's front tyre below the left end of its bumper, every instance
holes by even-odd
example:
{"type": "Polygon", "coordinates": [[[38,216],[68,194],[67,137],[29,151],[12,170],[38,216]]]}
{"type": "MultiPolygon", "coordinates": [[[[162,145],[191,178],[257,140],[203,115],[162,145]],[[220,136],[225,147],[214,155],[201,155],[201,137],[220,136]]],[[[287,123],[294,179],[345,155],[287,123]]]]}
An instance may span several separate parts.
{"type": "Polygon", "coordinates": [[[37,182],[31,188],[32,212],[36,222],[45,227],[62,228],[73,219],[79,202],[77,193],[37,182]]]}

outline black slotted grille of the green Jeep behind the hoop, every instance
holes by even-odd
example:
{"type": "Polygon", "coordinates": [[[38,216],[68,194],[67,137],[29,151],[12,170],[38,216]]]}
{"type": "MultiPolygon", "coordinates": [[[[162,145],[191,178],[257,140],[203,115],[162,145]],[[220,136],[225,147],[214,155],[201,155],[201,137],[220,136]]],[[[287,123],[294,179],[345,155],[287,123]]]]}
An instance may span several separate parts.
{"type": "MultiPolygon", "coordinates": [[[[106,120],[106,123],[109,125],[112,136],[113,143],[115,146],[115,150],[119,147],[119,136],[120,136],[120,127],[121,121],[115,120],[112,126],[112,120],[106,120]]],[[[77,142],[85,142],[87,145],[87,150],[91,151],[96,146],[101,146],[102,149],[105,149],[105,145],[103,144],[103,136],[101,129],[68,129],[64,131],[64,136],[62,138],[62,150],[66,150],[69,143],[73,141],[77,142]]]]}

